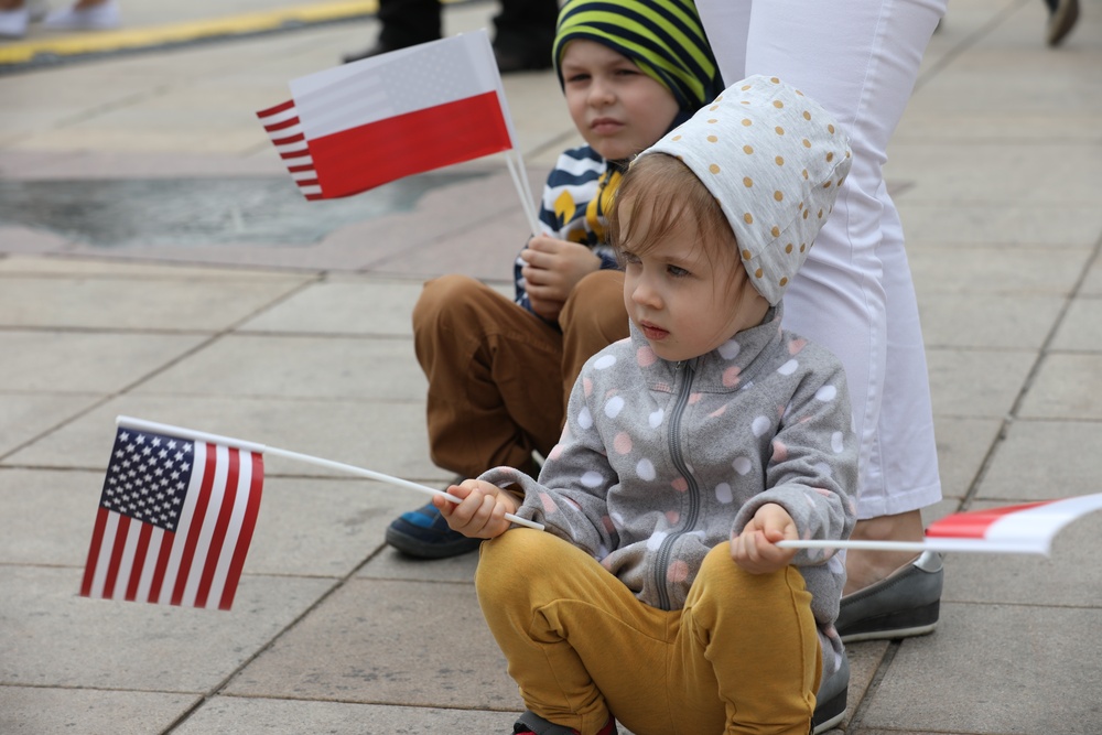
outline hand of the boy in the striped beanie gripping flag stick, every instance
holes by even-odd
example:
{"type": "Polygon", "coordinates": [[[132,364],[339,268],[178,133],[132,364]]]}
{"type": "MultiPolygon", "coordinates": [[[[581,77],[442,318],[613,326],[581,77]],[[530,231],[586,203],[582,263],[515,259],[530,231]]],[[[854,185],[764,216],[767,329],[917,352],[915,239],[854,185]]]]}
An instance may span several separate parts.
{"type": "Polygon", "coordinates": [[[545,320],[555,321],[577,282],[601,268],[601,258],[584,245],[537,235],[520,251],[527,263],[525,277],[532,311],[545,320]]]}

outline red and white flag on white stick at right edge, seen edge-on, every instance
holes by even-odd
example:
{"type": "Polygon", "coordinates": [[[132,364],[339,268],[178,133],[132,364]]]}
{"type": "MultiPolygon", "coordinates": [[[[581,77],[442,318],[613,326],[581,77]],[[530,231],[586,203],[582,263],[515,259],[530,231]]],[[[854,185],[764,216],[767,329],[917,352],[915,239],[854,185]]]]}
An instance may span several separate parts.
{"type": "Polygon", "coordinates": [[[786,549],[869,549],[880,551],[980,551],[1045,554],[1065,526],[1102,510],[1102,493],[1060,500],[953,514],[930,523],[926,541],[779,541],[786,549]]]}

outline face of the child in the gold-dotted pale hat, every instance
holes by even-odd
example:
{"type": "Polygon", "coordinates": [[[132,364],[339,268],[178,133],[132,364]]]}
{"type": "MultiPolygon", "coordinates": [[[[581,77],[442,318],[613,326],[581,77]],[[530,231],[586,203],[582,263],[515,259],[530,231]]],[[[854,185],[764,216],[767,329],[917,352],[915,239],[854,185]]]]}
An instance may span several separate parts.
{"type": "Polygon", "coordinates": [[[769,303],[749,284],[733,235],[709,248],[685,217],[651,242],[647,213],[640,208],[636,221],[634,205],[623,203],[619,215],[633,239],[622,248],[624,305],[656,355],[671,361],[698,357],[760,324],[769,303]]]}

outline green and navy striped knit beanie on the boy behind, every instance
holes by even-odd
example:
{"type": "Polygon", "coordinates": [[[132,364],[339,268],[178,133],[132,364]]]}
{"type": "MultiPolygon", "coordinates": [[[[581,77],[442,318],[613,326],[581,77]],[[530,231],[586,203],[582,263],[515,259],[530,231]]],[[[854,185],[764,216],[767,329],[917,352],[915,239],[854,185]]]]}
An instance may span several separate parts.
{"type": "Polygon", "coordinates": [[[723,91],[693,0],[566,0],[552,52],[560,85],[563,52],[577,39],[630,58],[673,94],[682,112],[695,112],[723,91]]]}

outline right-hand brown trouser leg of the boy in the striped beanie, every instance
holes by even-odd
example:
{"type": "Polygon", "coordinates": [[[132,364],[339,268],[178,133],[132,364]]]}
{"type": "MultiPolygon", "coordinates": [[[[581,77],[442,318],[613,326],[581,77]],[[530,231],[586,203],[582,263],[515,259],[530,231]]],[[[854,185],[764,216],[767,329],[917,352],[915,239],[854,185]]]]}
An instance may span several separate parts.
{"type": "Polygon", "coordinates": [[[565,411],[585,360],[630,333],[624,307],[624,272],[598,270],[579,281],[559,314],[559,326],[565,411]]]}

